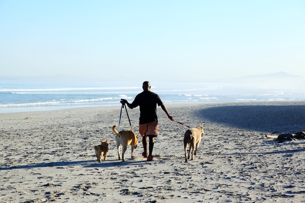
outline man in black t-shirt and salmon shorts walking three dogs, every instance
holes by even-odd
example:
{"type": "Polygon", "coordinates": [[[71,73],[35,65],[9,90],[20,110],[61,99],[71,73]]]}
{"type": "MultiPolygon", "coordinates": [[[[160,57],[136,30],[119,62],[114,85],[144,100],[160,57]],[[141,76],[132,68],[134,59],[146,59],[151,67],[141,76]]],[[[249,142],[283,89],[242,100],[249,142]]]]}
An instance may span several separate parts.
{"type": "Polygon", "coordinates": [[[122,104],[125,103],[130,109],[140,106],[140,119],[139,119],[139,133],[142,136],[142,143],[144,152],[142,156],[147,158],[147,161],[154,161],[152,157],[152,149],[154,145],[154,138],[158,136],[158,118],[157,118],[157,104],[161,106],[167,117],[173,121],[174,117],[170,116],[161,101],[160,97],[150,91],[150,83],[148,81],[143,82],[143,92],[139,93],[132,103],[128,103],[127,100],[121,99],[122,104]],[[149,137],[149,155],[147,155],[147,137],[149,137]]]}

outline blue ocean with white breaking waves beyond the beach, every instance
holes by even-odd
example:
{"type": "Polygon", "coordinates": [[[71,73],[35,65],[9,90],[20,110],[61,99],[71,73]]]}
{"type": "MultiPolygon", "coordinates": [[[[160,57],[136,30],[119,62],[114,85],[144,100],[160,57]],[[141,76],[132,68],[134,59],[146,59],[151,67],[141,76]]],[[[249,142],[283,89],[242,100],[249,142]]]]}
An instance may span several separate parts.
{"type": "MultiPolygon", "coordinates": [[[[132,102],[141,85],[0,84],[0,113],[59,110],[77,107],[120,106],[132,102]]],[[[267,88],[228,83],[158,83],[151,91],[163,103],[214,103],[305,100],[304,89],[267,88]]]]}

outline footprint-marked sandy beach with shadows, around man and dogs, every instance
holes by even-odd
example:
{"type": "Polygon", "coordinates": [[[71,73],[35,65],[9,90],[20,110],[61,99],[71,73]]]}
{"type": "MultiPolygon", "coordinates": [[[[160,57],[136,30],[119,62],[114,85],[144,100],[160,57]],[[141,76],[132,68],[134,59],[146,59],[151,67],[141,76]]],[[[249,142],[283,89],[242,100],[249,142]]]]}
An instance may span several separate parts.
{"type": "MultiPolygon", "coordinates": [[[[142,142],[118,160],[120,106],[0,114],[0,202],[305,202],[305,140],[265,137],[305,131],[305,101],[166,106],[176,121],[205,127],[189,163],[188,128],[160,107],[151,162],[142,142]],[[109,153],[98,163],[101,139],[109,153]]],[[[139,108],[127,110],[139,135],[139,108]]],[[[129,128],[123,109],[120,130],[129,128]]]]}

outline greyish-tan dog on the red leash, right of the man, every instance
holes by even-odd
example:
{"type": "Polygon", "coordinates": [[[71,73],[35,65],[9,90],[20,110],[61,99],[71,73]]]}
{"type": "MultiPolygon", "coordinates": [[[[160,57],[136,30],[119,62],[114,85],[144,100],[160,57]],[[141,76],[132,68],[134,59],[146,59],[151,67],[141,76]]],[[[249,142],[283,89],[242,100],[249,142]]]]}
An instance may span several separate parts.
{"type": "Polygon", "coordinates": [[[199,147],[199,143],[201,141],[201,137],[203,137],[204,134],[204,127],[198,126],[197,128],[191,128],[185,131],[184,133],[184,155],[185,155],[185,163],[188,163],[188,159],[190,159],[191,149],[192,150],[192,159],[194,159],[194,155],[197,155],[197,150],[199,147]],[[186,149],[188,148],[188,145],[190,145],[190,148],[188,149],[188,157],[186,158],[186,149]],[[196,148],[195,148],[196,146],[196,148]]]}

